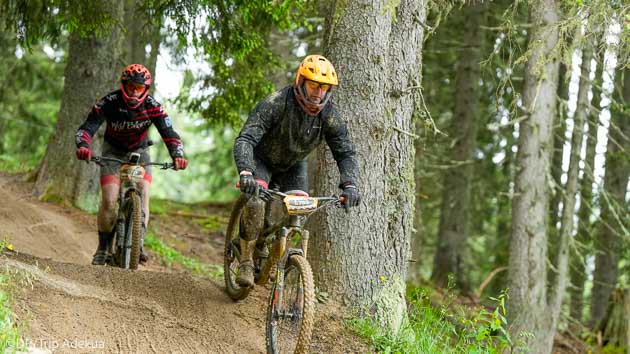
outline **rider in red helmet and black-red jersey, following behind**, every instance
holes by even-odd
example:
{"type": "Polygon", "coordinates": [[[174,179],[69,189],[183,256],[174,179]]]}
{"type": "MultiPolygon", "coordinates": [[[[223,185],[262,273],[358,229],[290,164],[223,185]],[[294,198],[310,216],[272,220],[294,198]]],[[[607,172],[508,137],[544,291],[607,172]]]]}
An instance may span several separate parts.
{"type": "MultiPolygon", "coordinates": [[[[120,78],[120,89],[99,99],[92,107],[85,122],[76,134],[77,158],[89,161],[92,157],[92,137],[106,122],[104,157],[126,160],[129,153],[140,153],[140,162],[149,163],[148,133],[151,124],[155,124],[162,140],[173,159],[175,170],[183,170],[188,165],[184,158],[184,148],[179,135],[173,129],[171,119],[164,112],[160,103],[149,95],[153,78],[149,70],[140,64],[127,66],[120,78]]],[[[108,254],[109,242],[113,238],[116,222],[116,203],[120,190],[118,169],[120,164],[104,161],[101,167],[100,185],[101,205],[98,210],[98,247],[92,258],[93,265],[103,265],[111,257],[108,254]]],[[[145,166],[143,183],[144,228],[149,221],[149,185],[151,184],[151,166],[145,166]]],[[[140,247],[140,263],[148,260],[144,252],[144,232],[140,247]]]]}

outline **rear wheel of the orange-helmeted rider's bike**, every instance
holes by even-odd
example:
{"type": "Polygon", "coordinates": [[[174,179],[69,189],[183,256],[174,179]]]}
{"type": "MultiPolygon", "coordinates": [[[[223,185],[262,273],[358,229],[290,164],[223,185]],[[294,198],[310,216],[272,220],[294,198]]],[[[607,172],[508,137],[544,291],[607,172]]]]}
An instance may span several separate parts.
{"type": "Polygon", "coordinates": [[[236,201],[232,208],[230,221],[225,232],[225,246],[223,249],[223,277],[225,279],[225,290],[232,300],[242,300],[249,295],[251,288],[241,288],[236,283],[238,276],[239,259],[241,258],[241,249],[239,243],[239,229],[243,207],[247,203],[244,195],[236,201]]]}

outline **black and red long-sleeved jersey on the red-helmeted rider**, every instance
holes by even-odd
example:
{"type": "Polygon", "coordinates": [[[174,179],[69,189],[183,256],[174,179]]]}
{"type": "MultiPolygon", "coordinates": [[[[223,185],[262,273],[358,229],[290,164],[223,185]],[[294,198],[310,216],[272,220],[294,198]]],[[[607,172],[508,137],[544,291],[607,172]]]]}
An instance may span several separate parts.
{"type": "Polygon", "coordinates": [[[133,151],[147,146],[149,127],[155,124],[171,157],[183,157],[184,147],[179,135],[173,130],[171,118],[152,96],[142,105],[130,109],[125,104],[122,91],[116,90],[96,102],[76,135],[77,147],[89,147],[98,128],[107,122],[105,141],[122,151],[133,151]]]}

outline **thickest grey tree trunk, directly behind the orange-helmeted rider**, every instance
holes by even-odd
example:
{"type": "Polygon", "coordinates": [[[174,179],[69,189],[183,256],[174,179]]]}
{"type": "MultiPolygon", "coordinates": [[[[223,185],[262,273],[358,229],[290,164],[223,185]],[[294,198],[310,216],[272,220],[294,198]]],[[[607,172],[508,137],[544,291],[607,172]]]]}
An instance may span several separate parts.
{"type": "MultiPolygon", "coordinates": [[[[402,0],[385,8],[381,2],[351,0],[331,16],[327,55],[340,77],[334,99],[357,148],[363,201],[349,214],[331,209],[319,214],[312,264],[320,289],[398,329],[406,314],[414,202],[410,132],[425,2],[402,0]]],[[[318,150],[319,195],[335,192],[339,180],[326,151],[318,150]]]]}

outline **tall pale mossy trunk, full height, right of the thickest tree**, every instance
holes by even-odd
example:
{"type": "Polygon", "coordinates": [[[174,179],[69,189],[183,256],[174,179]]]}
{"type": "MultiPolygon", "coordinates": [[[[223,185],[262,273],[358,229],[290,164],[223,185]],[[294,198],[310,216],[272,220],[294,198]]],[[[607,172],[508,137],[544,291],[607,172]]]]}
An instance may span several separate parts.
{"type": "Polygon", "coordinates": [[[530,3],[528,49],[523,106],[528,115],[519,125],[515,196],[508,277],[509,323],[512,337],[527,332],[534,353],[551,352],[554,331],[547,314],[547,212],[549,160],[556,113],[559,6],[557,0],[530,3]]]}

